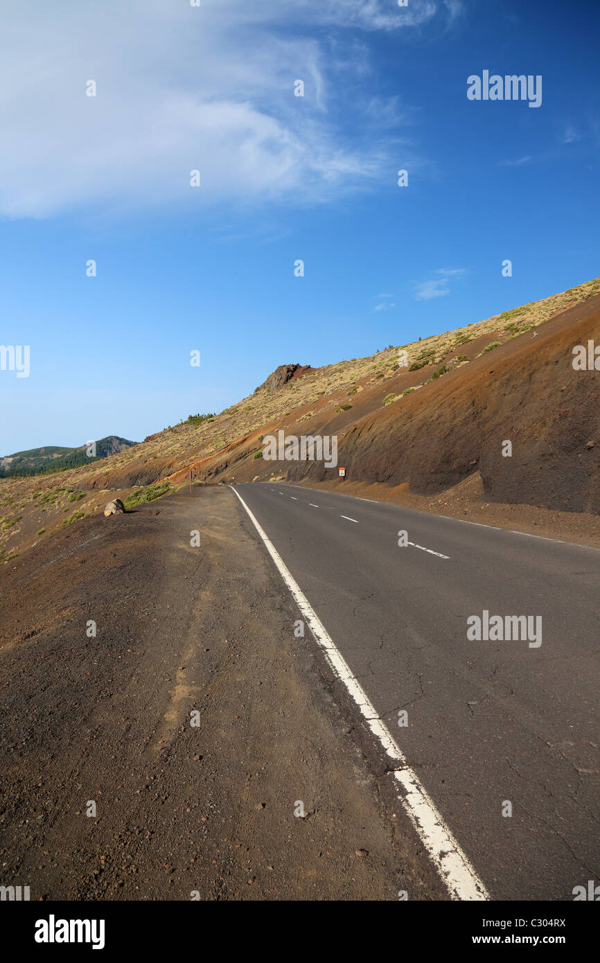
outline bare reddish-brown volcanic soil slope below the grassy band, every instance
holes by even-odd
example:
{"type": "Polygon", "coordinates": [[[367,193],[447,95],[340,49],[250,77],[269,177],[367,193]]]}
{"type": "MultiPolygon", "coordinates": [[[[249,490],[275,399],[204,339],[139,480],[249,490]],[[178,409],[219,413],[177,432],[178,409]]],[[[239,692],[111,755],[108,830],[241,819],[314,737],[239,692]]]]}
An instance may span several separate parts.
{"type": "MultiPolygon", "coordinates": [[[[488,333],[466,345],[469,363],[405,397],[406,388],[430,377],[430,368],[401,369],[378,388],[366,387],[352,396],[352,413],[324,402],[305,422],[293,411],[289,420],[265,431],[337,436],[346,490],[350,483],[378,485],[381,495],[375,497],[384,500],[385,488],[398,492],[404,485],[415,498],[437,500],[448,492],[452,501],[453,488],[477,477],[484,503],[597,515],[600,371],[575,370],[573,349],[590,340],[600,344],[600,296],[478,357],[489,338],[488,333]],[[385,404],[383,396],[396,399],[385,404]]],[[[449,351],[446,360],[456,352],[449,351]]],[[[258,444],[258,438],[251,444],[240,439],[206,459],[198,477],[339,483],[337,467],[327,468],[324,461],[255,461],[258,444]]],[[[428,508],[425,502],[423,507],[428,508]]],[[[561,537],[561,526],[556,534],[561,537]]]]}

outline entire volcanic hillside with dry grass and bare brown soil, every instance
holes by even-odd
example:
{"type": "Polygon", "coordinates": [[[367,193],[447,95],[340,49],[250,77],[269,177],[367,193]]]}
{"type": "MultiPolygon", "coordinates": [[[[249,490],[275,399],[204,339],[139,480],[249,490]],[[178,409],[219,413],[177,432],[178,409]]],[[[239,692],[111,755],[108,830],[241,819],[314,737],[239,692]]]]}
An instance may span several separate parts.
{"type": "Polygon", "coordinates": [[[190,469],[196,483],[362,483],[383,497],[477,482],[487,503],[597,514],[600,374],[573,367],[573,349],[590,340],[600,345],[600,278],[366,358],[281,365],[221,414],[84,467],[0,479],[0,558],[102,510],[109,492],[126,507],[169,494],[190,469]],[[263,436],[278,429],[337,435],[347,480],[323,462],[265,460],[263,436]]]}

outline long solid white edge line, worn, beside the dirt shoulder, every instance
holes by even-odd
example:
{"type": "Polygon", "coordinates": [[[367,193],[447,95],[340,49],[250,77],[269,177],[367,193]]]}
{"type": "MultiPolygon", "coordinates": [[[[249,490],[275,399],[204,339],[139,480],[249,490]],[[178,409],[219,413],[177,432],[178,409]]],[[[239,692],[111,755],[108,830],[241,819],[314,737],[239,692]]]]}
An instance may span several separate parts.
{"type": "Polygon", "coordinates": [[[430,860],[445,883],[453,899],[489,899],[485,886],[441,814],[435,808],[425,787],[412,768],[408,766],[400,746],[395,742],[386,725],[378,717],[375,706],[360,683],[352,675],[350,665],[344,659],[323,622],[314,612],[294,576],[274,547],[273,542],[254,517],[248,505],[236,489],[229,486],[246,509],[248,517],[262,538],[269,555],[285,585],[292,593],[300,612],[306,619],[317,645],[323,651],[333,673],[345,686],[364,717],[369,729],[378,740],[386,755],[393,761],[392,775],[403,792],[398,798],[408,818],[427,849],[430,860]]]}

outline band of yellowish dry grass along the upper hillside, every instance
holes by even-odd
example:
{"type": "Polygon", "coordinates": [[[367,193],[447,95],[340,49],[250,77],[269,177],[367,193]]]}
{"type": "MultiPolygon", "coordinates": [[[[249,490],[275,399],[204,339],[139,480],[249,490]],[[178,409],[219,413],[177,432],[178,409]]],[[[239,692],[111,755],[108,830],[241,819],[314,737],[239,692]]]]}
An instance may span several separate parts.
{"type": "MultiPolygon", "coordinates": [[[[350,410],[347,401],[349,396],[352,398],[364,388],[375,385],[383,389],[383,403],[387,395],[385,382],[399,373],[398,354],[401,349],[408,354],[408,366],[427,361],[421,369],[423,381],[426,382],[450,352],[455,358],[457,355],[464,357],[464,353],[461,355],[462,345],[467,345],[470,340],[489,333],[494,335],[493,340],[507,341],[543,324],[566,307],[585,301],[598,293],[600,278],[595,278],[561,294],[494,315],[478,324],[465,325],[422,341],[378,351],[364,358],[352,358],[317,368],[289,382],[279,391],[262,390],[250,395],[198,427],[183,424],[165,429],[150,441],[142,442],[102,461],[93,462],[90,466],[45,477],[0,479],[0,560],[10,560],[22,547],[35,544],[40,536],[41,526],[45,530],[43,537],[48,537],[60,527],[65,517],[65,506],[69,501],[75,501],[74,492],[87,492],[87,512],[102,510],[108,501],[108,489],[99,488],[98,480],[106,477],[109,472],[111,475],[115,475],[119,470],[124,472],[134,462],[141,466],[143,472],[143,466],[150,470],[156,459],[168,459],[170,470],[165,473],[164,479],[152,480],[158,483],[196,461],[217,455],[243,440],[248,442],[250,451],[253,452],[258,445],[259,433],[266,433],[268,428],[273,429],[274,424],[280,422],[284,416],[293,414],[296,421],[302,423],[309,421],[316,413],[323,413],[325,409],[335,407],[350,410]],[[95,487],[90,490],[92,484],[95,484],[95,487]],[[18,521],[3,524],[14,518],[18,518],[18,521]]],[[[464,351],[468,355],[468,349],[464,351]]],[[[257,375],[256,380],[260,377],[257,375]]],[[[390,398],[390,403],[391,401],[390,398]]],[[[112,488],[111,497],[125,500],[137,487],[139,486],[112,488]]]]}

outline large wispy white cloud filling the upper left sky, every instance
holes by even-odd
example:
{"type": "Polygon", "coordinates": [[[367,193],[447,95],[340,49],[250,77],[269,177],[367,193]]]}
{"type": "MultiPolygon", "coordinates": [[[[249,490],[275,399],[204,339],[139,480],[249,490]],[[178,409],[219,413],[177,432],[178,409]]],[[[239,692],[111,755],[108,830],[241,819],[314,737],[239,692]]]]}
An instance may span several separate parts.
{"type": "MultiPolygon", "coordinates": [[[[43,218],[80,205],[315,202],[377,183],[402,123],[343,123],[344,83],[377,30],[457,16],[448,0],[103,0],[3,4],[0,215],[43,218]],[[406,12],[407,15],[406,15],[406,12]],[[327,25],[339,30],[319,30],[327,25]],[[345,27],[354,30],[346,31],[345,27]],[[97,83],[97,96],[85,94],[97,83]],[[294,96],[301,79],[304,97],[294,96]],[[369,130],[367,131],[367,128],[369,130]],[[364,131],[364,132],[363,132],[364,131]],[[199,169],[201,187],[190,187],[199,169]]],[[[406,35],[408,36],[408,35],[406,35]]]]}

